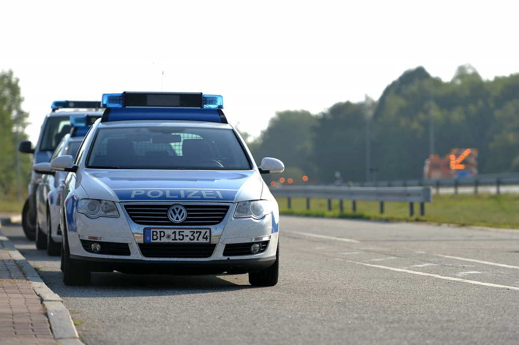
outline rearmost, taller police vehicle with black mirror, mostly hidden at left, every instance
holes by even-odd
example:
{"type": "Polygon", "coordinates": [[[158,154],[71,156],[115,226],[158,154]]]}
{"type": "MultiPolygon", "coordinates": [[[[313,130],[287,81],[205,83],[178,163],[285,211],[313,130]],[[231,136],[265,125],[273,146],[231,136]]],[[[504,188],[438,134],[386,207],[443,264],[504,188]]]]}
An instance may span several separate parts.
{"type": "MultiPolygon", "coordinates": [[[[52,102],[51,112],[43,120],[36,145],[33,147],[30,140],[25,140],[20,142],[18,151],[34,154],[33,165],[49,162],[63,136],[71,130],[70,116],[77,114],[78,111],[83,114],[102,114],[97,111],[100,106],[100,101],[56,100],[52,102]]],[[[40,178],[42,178],[41,174],[32,172],[29,197],[25,200],[22,209],[23,232],[32,241],[36,239],[36,188],[40,178]]]]}

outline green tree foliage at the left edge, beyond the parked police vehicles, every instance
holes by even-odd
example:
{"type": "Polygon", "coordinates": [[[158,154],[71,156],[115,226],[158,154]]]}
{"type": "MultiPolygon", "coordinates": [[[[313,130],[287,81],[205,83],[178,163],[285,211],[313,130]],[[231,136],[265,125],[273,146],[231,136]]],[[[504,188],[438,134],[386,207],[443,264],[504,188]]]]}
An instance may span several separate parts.
{"type": "MultiPolygon", "coordinates": [[[[0,71],[0,195],[4,196],[17,193],[17,131],[18,140],[25,140],[24,130],[29,124],[29,113],[22,110],[22,102],[18,78],[12,70],[0,71]]],[[[22,191],[29,183],[31,158],[20,154],[22,191]]]]}

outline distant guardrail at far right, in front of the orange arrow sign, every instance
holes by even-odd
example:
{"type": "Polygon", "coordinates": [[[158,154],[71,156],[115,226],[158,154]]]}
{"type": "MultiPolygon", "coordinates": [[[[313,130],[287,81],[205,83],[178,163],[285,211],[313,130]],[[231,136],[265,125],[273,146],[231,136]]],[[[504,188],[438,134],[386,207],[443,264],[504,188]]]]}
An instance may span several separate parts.
{"type": "Polygon", "coordinates": [[[443,180],[401,180],[401,181],[378,181],[378,182],[354,182],[353,186],[362,187],[410,187],[410,186],[428,186],[435,188],[436,194],[440,194],[441,187],[453,187],[454,194],[458,194],[460,186],[472,186],[474,194],[477,194],[480,186],[496,186],[496,193],[500,194],[501,186],[518,185],[519,176],[511,174],[510,176],[501,177],[462,177],[458,179],[443,180]]]}

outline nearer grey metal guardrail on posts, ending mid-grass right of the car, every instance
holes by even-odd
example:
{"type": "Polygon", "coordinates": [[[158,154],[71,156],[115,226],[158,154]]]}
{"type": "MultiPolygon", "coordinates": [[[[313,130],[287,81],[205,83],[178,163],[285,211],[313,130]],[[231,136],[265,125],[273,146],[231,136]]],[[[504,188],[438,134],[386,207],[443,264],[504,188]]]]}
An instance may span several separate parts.
{"type": "Polygon", "coordinates": [[[270,192],[275,197],[287,198],[288,208],[292,208],[292,198],[306,198],[306,209],[310,209],[310,199],[328,199],[328,210],[332,210],[332,199],[339,200],[339,210],[344,211],[343,200],[352,201],[352,211],[357,212],[358,201],[378,201],[380,213],[384,213],[385,202],[409,203],[409,216],[414,214],[414,203],[420,203],[420,215],[425,215],[425,203],[432,202],[430,187],[351,187],[329,185],[277,186],[270,192]]]}

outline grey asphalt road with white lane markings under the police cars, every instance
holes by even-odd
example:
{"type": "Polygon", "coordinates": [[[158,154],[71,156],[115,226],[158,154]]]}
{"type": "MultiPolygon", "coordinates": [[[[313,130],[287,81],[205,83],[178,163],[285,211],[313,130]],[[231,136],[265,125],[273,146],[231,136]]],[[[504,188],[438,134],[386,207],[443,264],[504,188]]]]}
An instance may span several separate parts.
{"type": "Polygon", "coordinates": [[[517,344],[519,232],[282,217],[280,281],[93,274],[58,293],[86,344],[517,344]]]}

